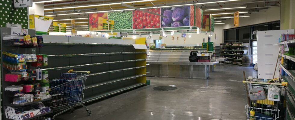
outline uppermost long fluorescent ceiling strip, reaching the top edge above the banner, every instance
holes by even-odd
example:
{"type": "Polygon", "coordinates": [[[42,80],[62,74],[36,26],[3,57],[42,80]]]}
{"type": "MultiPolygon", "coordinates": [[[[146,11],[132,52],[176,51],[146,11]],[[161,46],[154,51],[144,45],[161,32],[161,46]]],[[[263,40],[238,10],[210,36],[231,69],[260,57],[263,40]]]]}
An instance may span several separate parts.
{"type": "Polygon", "coordinates": [[[94,6],[105,6],[105,5],[114,5],[121,3],[135,3],[135,2],[147,2],[147,1],[155,1],[155,0],[139,0],[139,1],[129,1],[129,2],[117,2],[117,3],[107,3],[107,4],[94,4],[94,5],[83,5],[83,6],[73,6],[73,7],[59,7],[59,8],[48,8],[44,10],[59,10],[59,9],[69,9],[69,8],[80,8],[80,7],[94,7],[94,6]]]}

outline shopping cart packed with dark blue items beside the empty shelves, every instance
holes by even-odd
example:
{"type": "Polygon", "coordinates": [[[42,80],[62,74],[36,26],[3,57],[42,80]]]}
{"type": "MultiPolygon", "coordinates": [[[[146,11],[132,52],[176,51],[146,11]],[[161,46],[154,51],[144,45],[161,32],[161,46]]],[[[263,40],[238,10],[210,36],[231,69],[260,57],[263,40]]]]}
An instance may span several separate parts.
{"type": "Polygon", "coordinates": [[[45,104],[53,111],[62,110],[55,114],[52,119],[68,110],[71,110],[73,113],[75,110],[74,107],[77,106],[84,107],[87,115],[90,116],[92,114],[91,110],[82,104],[84,99],[85,81],[87,79],[87,74],[89,74],[90,71],[69,70],[67,73],[65,73],[67,74],[67,77],[62,78],[61,76],[50,80],[51,87],[49,94],[51,95],[52,100],[45,102],[45,104]]]}

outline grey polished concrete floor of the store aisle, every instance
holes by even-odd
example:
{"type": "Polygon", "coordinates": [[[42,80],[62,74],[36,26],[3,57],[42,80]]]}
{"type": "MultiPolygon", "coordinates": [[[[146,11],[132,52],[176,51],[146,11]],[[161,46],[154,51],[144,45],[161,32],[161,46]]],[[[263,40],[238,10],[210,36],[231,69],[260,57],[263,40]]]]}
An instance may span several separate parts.
{"type": "Polygon", "coordinates": [[[209,79],[147,77],[151,85],[140,87],[84,108],[64,113],[56,120],[240,120],[245,116],[243,70],[255,76],[252,67],[218,64],[209,79]],[[176,85],[170,91],[154,91],[157,86],[176,85]]]}

